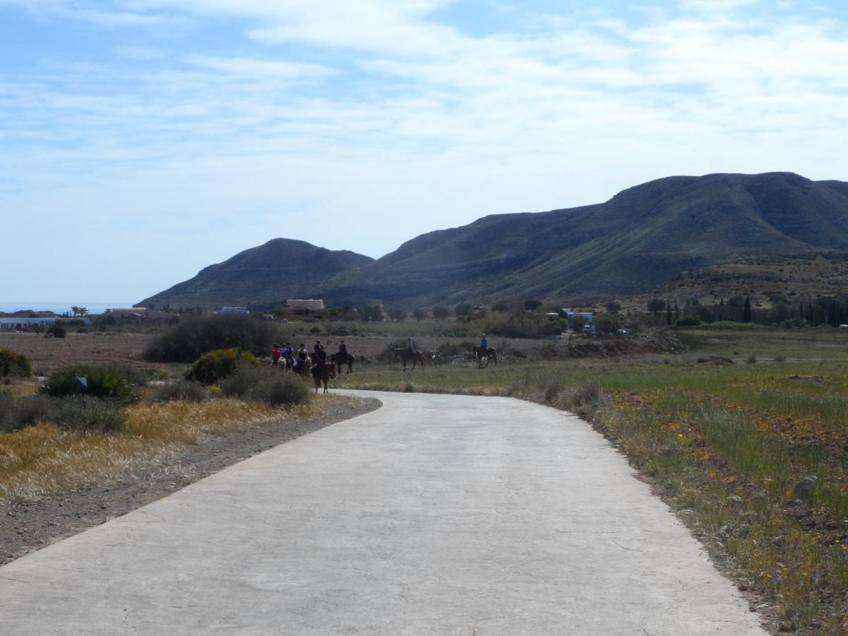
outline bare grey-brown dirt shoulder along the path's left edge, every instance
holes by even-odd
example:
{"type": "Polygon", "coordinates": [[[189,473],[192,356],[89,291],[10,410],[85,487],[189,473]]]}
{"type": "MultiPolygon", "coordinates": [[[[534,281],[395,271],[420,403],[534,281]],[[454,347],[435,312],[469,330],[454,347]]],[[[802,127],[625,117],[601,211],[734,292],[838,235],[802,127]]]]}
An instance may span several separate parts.
{"type": "Polygon", "coordinates": [[[55,494],[0,516],[0,565],[147,505],[252,455],[338,421],[377,410],[377,399],[335,397],[315,416],[179,447],[166,470],[151,467],[98,488],[55,494]]]}

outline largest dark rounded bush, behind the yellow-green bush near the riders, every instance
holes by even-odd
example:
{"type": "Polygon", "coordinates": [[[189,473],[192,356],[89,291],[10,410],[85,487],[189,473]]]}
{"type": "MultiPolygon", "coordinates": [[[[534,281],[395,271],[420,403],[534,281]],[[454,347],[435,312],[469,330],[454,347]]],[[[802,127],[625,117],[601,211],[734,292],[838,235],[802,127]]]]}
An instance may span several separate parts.
{"type": "Polygon", "coordinates": [[[254,355],[271,351],[276,338],[273,322],[246,315],[189,318],[145,349],[145,360],[192,363],[208,351],[244,349],[254,355]]]}

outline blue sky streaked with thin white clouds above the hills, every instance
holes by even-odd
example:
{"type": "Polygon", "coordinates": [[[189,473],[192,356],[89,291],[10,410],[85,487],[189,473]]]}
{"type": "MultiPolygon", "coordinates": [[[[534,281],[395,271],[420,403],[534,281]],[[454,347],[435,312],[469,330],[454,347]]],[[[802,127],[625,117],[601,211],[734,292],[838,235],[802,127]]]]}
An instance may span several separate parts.
{"type": "Polygon", "coordinates": [[[844,0],[0,0],[0,302],[845,148],[844,0]]]}

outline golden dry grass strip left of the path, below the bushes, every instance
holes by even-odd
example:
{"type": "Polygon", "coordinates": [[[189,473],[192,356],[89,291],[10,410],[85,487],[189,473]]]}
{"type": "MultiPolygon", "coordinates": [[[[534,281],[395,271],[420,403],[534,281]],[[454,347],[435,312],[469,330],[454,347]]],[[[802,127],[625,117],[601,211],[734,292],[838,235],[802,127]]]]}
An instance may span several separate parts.
{"type": "Polygon", "coordinates": [[[179,445],[209,435],[295,420],[316,406],[290,410],[234,399],[137,404],[114,435],[38,424],[0,436],[0,506],[105,483],[138,471],[169,470],[179,445]]]}

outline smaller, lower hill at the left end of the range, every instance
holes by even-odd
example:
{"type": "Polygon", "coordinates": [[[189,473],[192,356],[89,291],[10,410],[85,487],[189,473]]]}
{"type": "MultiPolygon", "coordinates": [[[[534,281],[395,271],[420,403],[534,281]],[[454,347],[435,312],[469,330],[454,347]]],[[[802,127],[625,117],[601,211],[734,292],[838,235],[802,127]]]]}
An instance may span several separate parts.
{"type": "Polygon", "coordinates": [[[304,241],[275,238],[223,263],[209,265],[197,276],[145,298],[138,305],[274,306],[286,298],[311,297],[330,277],[373,260],[347,250],[333,252],[304,241]]]}

